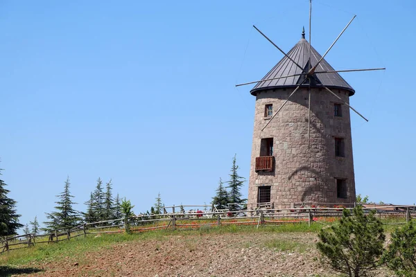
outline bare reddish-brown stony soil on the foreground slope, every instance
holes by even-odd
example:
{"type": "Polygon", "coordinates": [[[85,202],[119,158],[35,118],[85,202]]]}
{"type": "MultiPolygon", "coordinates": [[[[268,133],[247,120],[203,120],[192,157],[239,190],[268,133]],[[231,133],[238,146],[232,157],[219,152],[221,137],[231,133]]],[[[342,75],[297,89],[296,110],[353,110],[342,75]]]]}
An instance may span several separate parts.
{"type": "Polygon", "coordinates": [[[27,276],[335,276],[320,264],[317,240],[315,233],[171,235],[33,263],[42,271],[27,276]]]}

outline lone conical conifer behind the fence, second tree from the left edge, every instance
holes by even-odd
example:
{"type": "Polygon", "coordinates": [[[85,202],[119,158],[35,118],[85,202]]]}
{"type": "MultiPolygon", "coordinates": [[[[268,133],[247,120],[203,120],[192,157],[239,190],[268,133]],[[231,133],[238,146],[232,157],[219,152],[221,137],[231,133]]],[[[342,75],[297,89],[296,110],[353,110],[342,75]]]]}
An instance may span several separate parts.
{"type": "Polygon", "coordinates": [[[71,229],[71,227],[77,226],[80,221],[80,217],[77,211],[73,209],[72,202],[73,195],[69,192],[69,177],[64,184],[64,191],[57,195],[58,201],[55,202],[55,211],[52,213],[46,213],[46,217],[49,219],[49,222],[44,222],[46,229],[52,231],[55,229],[71,229]]]}

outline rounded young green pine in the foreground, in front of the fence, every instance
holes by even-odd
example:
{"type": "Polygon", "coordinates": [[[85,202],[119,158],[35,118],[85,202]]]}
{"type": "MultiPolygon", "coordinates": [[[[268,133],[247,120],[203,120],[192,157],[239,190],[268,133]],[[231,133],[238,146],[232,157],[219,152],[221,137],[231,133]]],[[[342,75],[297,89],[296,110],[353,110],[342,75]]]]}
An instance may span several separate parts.
{"type": "Polygon", "coordinates": [[[367,276],[379,266],[385,240],[383,225],[375,211],[367,215],[357,206],[346,209],[339,224],[321,229],[317,247],[329,267],[350,277],[367,276]]]}

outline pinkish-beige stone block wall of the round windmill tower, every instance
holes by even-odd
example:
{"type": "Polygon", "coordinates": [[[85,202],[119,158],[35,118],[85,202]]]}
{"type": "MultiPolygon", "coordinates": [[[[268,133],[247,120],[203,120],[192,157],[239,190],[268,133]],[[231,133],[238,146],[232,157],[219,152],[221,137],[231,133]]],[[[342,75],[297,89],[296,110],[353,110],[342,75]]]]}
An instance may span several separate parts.
{"type": "MultiPolygon", "coordinates": [[[[349,92],[331,89],[349,103],[349,92]]],[[[257,203],[259,186],[270,186],[270,200],[276,208],[291,208],[300,203],[353,203],[356,199],[349,107],[324,89],[311,89],[311,132],[308,140],[308,89],[299,89],[263,131],[270,117],[293,91],[268,89],[257,93],[248,202],[257,203]],[[342,104],[342,117],[334,116],[334,104],[342,104]],[[273,139],[272,172],[256,172],[261,139],[273,139]],[[344,140],[345,157],[336,157],[335,138],[344,140]],[[344,179],[345,198],[337,197],[336,179],[344,179]]]]}

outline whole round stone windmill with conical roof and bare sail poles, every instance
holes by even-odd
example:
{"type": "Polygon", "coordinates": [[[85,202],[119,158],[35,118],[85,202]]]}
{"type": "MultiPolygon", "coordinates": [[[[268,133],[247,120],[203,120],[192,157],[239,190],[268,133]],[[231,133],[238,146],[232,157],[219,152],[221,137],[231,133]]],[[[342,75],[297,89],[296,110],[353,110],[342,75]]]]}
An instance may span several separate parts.
{"type": "Polygon", "coordinates": [[[338,72],[381,69],[334,70],[324,56],[336,41],[321,56],[303,32],[262,80],[245,83],[256,83],[250,91],[256,107],[249,204],[291,208],[355,202],[349,109],[359,113],[349,106],[354,89],[338,72]]]}

